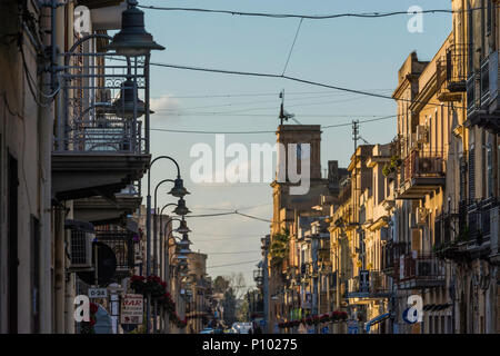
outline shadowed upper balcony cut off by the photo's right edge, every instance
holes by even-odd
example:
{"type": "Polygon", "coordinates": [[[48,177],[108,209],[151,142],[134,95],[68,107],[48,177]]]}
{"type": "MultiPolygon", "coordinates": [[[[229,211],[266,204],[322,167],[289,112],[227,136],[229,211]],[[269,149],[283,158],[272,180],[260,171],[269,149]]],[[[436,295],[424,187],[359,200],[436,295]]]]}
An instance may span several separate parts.
{"type": "Polygon", "coordinates": [[[466,126],[478,126],[494,134],[500,132],[500,102],[498,90],[498,51],[482,62],[480,69],[467,80],[466,126]]]}

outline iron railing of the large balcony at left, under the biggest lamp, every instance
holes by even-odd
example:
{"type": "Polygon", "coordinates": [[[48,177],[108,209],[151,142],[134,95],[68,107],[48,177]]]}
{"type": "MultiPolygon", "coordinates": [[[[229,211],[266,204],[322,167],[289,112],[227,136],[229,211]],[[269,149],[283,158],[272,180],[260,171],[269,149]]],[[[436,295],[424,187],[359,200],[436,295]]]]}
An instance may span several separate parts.
{"type": "Polygon", "coordinates": [[[94,43],[90,39],[61,53],[62,115],[53,151],[146,154],[148,135],[139,119],[150,112],[148,100],[140,99],[148,85],[146,60],[92,52],[94,43]]]}

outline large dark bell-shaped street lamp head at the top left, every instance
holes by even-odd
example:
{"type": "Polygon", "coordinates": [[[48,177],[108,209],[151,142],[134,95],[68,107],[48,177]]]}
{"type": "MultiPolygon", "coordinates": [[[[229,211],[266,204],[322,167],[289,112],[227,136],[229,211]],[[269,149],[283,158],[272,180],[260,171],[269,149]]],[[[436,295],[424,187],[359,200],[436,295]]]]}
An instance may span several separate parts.
{"type": "Polygon", "coordinates": [[[114,50],[120,56],[138,57],[147,56],[151,50],[164,49],[146,31],[144,12],[137,4],[136,0],[128,0],[128,8],[121,13],[121,30],[114,34],[107,50],[114,50]]]}

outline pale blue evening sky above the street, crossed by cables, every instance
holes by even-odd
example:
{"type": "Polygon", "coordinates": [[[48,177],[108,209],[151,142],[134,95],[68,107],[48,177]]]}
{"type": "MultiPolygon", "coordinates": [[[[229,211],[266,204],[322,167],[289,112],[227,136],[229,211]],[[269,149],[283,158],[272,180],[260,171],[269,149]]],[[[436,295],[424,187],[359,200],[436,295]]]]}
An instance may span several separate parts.
{"type": "MultiPolygon", "coordinates": [[[[344,12],[451,9],[450,0],[142,0],[143,6],[204,8],[268,13],[334,14],[344,12]]],[[[241,17],[186,11],[146,12],[147,30],[164,51],[154,51],[152,62],[281,75],[300,19],[241,17]]],[[[330,86],[391,95],[397,73],[410,52],[430,60],[451,31],[451,14],[423,14],[423,31],[411,33],[408,14],[378,19],[304,19],[291,53],[287,76],[330,86]]],[[[393,100],[372,98],[288,81],[163,67],[151,68],[151,154],[173,157],[181,167],[186,197],[192,216],[241,210],[272,218],[272,188],[260,184],[197,184],[190,178],[198,159],[190,150],[196,144],[214,149],[216,136],[158,131],[270,131],[254,135],[226,135],[231,142],[276,142],[279,125],[279,92],[284,90],[284,107],[303,125],[350,123],[396,115],[393,100]]],[[[290,121],[290,123],[294,123],[290,121]]],[[[361,123],[361,137],[370,144],[389,142],[396,135],[396,119],[361,123]]],[[[351,127],[323,129],[322,168],[328,160],[348,165],[353,151],[351,127]]],[[[229,162],[231,159],[227,159],[229,162]]],[[[151,170],[151,187],[174,178],[174,166],[159,161],[151,170]]],[[[146,180],[143,189],[146,189],[146,180]]],[[[174,202],[163,186],[159,207],[174,202]]],[[[261,258],[260,238],[269,234],[269,222],[238,215],[187,217],[192,233],[192,250],[208,255],[208,274],[243,273],[247,286],[254,285],[252,273],[261,258]],[[233,265],[239,264],[239,265],[233,265]],[[227,266],[229,265],[229,266],[227,266]],[[222,267],[218,267],[222,266],[222,267]]]]}

